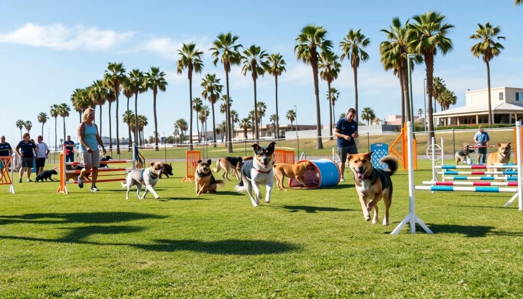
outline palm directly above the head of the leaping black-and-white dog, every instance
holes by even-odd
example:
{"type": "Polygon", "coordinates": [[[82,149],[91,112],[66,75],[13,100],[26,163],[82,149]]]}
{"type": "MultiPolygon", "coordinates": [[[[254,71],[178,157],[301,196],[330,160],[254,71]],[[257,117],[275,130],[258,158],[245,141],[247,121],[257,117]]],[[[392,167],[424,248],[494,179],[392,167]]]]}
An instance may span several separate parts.
{"type": "MultiPolygon", "coordinates": [[[[258,75],[264,75],[265,70],[269,67],[269,63],[267,62],[269,54],[267,54],[265,51],[261,51],[261,47],[258,47],[256,45],[252,45],[251,47],[243,50],[243,68],[242,73],[243,75],[247,75],[247,72],[251,72],[251,76],[253,78],[254,83],[254,107],[257,107],[257,100],[256,100],[256,80],[258,79],[258,75]]],[[[254,117],[257,118],[257,111],[254,110],[254,117]]],[[[256,139],[259,139],[259,128],[258,125],[254,126],[254,134],[256,136],[256,139]]]]}

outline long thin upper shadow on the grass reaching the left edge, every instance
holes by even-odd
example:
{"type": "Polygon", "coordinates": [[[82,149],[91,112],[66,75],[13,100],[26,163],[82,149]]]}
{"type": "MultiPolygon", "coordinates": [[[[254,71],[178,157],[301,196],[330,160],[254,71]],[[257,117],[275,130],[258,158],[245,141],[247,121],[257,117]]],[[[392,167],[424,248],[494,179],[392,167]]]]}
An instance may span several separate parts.
{"type": "Polygon", "coordinates": [[[0,216],[0,225],[9,223],[62,224],[62,223],[116,223],[141,219],[161,219],[165,216],[130,212],[93,213],[34,213],[0,216]]]}

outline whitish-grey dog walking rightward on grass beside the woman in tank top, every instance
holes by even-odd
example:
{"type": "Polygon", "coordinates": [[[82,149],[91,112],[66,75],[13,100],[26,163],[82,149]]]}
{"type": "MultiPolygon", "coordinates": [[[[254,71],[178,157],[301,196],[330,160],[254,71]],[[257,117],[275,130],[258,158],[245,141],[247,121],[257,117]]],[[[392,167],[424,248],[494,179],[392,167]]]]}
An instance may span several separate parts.
{"type": "Polygon", "coordinates": [[[158,182],[158,178],[163,173],[163,165],[160,162],[151,162],[151,167],[145,169],[133,169],[127,174],[126,183],[121,182],[122,187],[127,187],[126,200],[129,199],[129,191],[131,187],[135,185],[137,187],[136,195],[140,200],[145,198],[147,191],[151,192],[154,195],[154,198],[160,198],[154,191],[154,186],[158,182]],[[142,190],[142,185],[145,185],[145,191],[140,197],[140,191],[142,190]]]}

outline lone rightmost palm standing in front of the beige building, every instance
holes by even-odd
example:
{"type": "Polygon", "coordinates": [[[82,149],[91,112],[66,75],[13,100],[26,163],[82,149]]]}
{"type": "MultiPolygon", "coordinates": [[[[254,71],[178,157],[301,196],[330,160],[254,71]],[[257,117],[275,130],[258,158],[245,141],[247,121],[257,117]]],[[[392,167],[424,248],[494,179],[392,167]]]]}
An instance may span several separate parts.
{"type": "Polygon", "coordinates": [[[505,49],[498,40],[505,39],[503,36],[499,36],[501,28],[499,26],[492,27],[487,22],[485,25],[477,24],[479,27],[476,33],[471,35],[471,39],[480,40],[476,43],[470,51],[474,57],[483,57],[483,62],[487,65],[487,90],[488,90],[488,124],[492,125],[492,104],[491,104],[491,88],[490,88],[490,64],[489,62],[501,53],[501,50],[505,49]]]}

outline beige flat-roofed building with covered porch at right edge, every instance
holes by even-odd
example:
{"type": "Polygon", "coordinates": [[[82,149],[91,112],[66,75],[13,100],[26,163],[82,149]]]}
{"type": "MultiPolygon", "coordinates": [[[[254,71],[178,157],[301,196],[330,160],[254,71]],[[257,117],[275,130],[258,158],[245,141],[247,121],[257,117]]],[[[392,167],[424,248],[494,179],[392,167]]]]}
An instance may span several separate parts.
{"type": "MultiPolygon", "coordinates": [[[[434,113],[434,124],[464,125],[488,122],[488,91],[465,92],[465,106],[434,113]]],[[[514,124],[523,117],[523,88],[491,88],[491,109],[494,124],[514,124]]]]}

